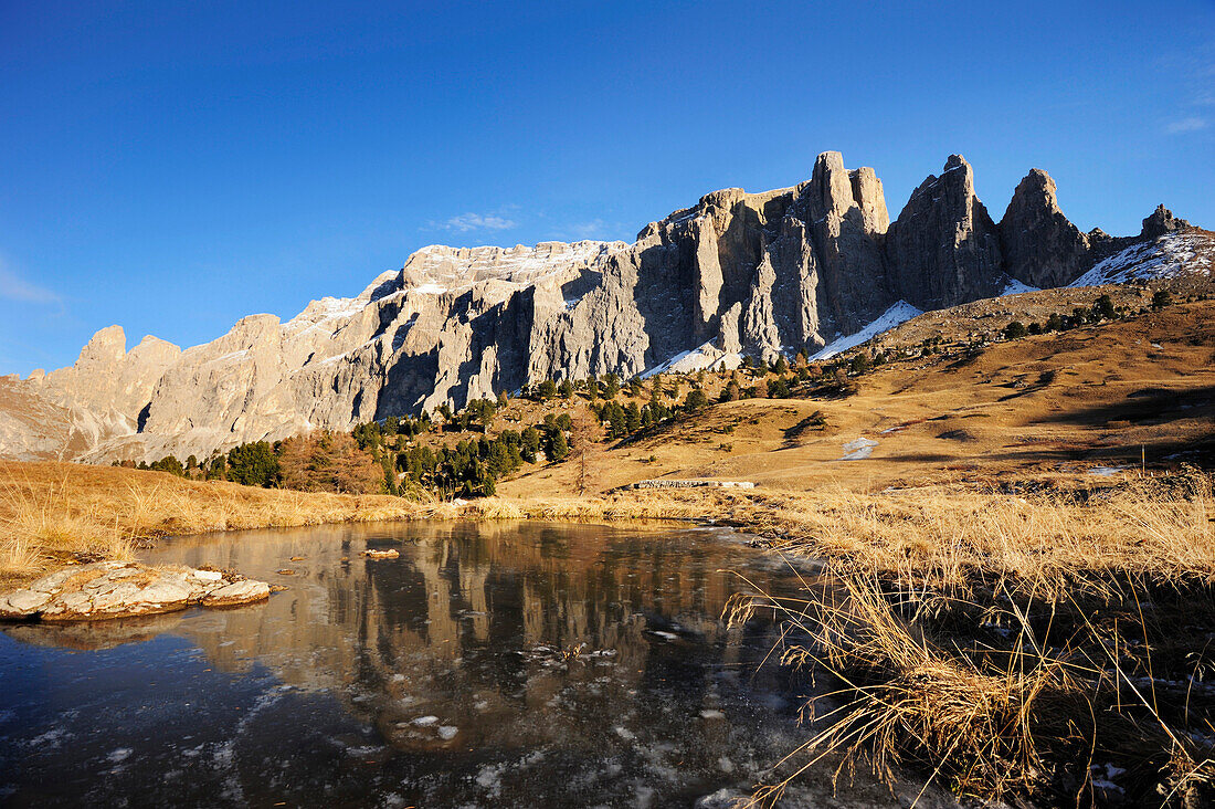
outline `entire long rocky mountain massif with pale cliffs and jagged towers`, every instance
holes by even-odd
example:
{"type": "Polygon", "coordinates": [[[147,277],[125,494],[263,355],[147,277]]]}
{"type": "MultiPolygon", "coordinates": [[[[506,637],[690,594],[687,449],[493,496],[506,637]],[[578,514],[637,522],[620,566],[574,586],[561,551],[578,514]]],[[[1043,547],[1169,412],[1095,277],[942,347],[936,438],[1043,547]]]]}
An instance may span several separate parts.
{"type": "Polygon", "coordinates": [[[126,352],[122,328],[104,328],[72,367],[6,378],[6,401],[23,404],[0,404],[0,453],[204,456],[544,378],[627,377],[689,353],[727,364],[813,354],[899,300],[933,309],[1011,279],[1064,285],[1128,245],[1188,229],[1160,208],[1138,237],[1084,235],[1038,169],[996,225],[957,155],[891,224],[874,170],[825,152],[801,185],[716,191],[632,245],[425,247],[355,298],[323,298],[287,322],[252,315],[186,350],[148,337],[126,352]]]}

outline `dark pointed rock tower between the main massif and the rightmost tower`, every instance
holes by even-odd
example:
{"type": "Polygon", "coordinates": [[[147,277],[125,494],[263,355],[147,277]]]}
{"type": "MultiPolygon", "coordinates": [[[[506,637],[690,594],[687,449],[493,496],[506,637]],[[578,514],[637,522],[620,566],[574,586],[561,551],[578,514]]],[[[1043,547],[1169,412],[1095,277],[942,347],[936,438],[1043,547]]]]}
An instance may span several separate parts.
{"type": "Polygon", "coordinates": [[[999,294],[1000,234],[961,155],[950,155],[940,176],[929,174],[911,192],[887,234],[886,258],[895,296],[920,309],[999,294]]]}

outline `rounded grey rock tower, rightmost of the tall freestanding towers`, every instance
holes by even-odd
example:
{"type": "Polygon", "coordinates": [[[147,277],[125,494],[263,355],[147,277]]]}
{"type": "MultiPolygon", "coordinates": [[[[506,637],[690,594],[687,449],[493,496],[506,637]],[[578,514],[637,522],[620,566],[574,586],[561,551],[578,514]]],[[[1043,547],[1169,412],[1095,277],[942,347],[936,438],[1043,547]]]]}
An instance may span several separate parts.
{"type": "Polygon", "coordinates": [[[1005,273],[1035,287],[1070,283],[1091,266],[1089,237],[1059,209],[1055,180],[1032,169],[1000,220],[1005,273]]]}

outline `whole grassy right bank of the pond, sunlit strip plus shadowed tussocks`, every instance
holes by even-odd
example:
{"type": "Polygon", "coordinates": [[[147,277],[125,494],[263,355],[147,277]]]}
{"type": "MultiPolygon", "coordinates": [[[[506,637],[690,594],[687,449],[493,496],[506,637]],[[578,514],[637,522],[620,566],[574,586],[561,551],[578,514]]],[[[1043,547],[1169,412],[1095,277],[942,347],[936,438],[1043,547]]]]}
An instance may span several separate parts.
{"type": "Polygon", "coordinates": [[[1107,763],[1143,787],[1134,805],[1215,797],[1211,659],[1194,641],[1215,623],[1211,477],[1027,498],[962,487],[717,498],[784,551],[824,560],[804,599],[741,599],[731,620],[774,609],[781,661],[830,674],[827,696],[843,697],[756,803],[826,755],[1035,805],[1101,804],[1090,765],[1107,763]]]}

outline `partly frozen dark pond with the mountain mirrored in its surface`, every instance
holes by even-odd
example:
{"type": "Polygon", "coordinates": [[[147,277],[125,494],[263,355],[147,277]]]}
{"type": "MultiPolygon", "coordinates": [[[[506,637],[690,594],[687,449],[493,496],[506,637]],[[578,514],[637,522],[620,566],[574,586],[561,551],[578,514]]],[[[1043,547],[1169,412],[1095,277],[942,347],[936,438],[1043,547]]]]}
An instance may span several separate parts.
{"type": "Polygon", "coordinates": [[[340,526],[175,539],[148,561],[289,589],[9,628],[0,799],[691,805],[745,794],[804,741],[785,673],[757,667],[779,627],[719,618],[738,573],[773,592],[797,577],[727,532],[340,526]],[[361,555],[386,547],[400,558],[361,555]]]}

